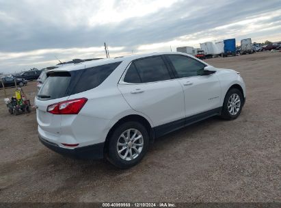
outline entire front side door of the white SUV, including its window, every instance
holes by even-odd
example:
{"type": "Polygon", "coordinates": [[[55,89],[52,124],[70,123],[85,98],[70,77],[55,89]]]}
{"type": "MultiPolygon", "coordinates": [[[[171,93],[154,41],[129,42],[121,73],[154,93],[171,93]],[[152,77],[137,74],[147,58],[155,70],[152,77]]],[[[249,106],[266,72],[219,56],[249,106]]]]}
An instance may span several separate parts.
{"type": "Polygon", "coordinates": [[[185,116],[219,107],[221,87],[215,74],[203,75],[202,62],[185,55],[166,55],[185,94],[185,116]]]}

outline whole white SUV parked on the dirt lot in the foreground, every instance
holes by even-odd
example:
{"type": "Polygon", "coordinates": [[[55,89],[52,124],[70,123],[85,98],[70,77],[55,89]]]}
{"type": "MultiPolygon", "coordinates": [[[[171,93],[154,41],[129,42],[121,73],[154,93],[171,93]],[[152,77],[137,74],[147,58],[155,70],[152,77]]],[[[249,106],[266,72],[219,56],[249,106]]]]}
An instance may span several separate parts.
{"type": "Polygon", "coordinates": [[[50,70],[36,97],[40,141],[57,153],[137,164],[155,138],[239,116],[245,83],[185,53],[149,53],[50,70]]]}

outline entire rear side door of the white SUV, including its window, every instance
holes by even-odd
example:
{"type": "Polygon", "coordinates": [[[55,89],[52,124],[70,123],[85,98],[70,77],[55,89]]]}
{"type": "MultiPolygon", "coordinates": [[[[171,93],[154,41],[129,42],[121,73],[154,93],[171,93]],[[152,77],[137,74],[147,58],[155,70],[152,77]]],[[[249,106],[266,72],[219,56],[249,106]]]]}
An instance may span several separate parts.
{"type": "Polygon", "coordinates": [[[172,76],[161,56],[146,57],[131,62],[118,88],[127,103],[153,125],[180,126],[185,118],[183,88],[172,76]]]}

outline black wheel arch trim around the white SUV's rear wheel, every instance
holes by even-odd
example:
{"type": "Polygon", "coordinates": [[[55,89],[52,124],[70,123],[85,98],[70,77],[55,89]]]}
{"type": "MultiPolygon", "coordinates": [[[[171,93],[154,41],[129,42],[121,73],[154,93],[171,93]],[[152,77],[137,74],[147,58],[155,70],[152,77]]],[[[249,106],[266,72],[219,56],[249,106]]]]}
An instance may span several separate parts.
{"type": "Polygon", "coordinates": [[[146,118],[144,118],[144,116],[140,116],[138,114],[130,114],[130,115],[127,115],[127,116],[124,116],[124,117],[120,118],[111,127],[111,129],[107,133],[107,136],[105,138],[105,146],[104,146],[104,153],[105,153],[105,155],[107,155],[108,142],[109,142],[109,138],[111,137],[113,131],[119,125],[122,125],[124,122],[128,122],[128,121],[136,121],[136,122],[140,122],[142,125],[144,125],[144,127],[146,127],[146,130],[148,131],[150,143],[154,142],[154,140],[155,140],[155,132],[154,132],[153,128],[151,127],[150,122],[146,118]]]}

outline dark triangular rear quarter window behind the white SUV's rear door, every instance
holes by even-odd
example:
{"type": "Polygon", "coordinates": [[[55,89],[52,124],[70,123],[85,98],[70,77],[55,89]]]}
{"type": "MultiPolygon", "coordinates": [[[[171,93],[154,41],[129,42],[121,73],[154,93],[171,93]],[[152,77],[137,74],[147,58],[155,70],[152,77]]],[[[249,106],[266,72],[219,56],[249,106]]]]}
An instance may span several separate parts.
{"type": "Polygon", "coordinates": [[[75,86],[72,94],[90,90],[99,86],[119,66],[121,62],[86,68],[75,86]]]}

